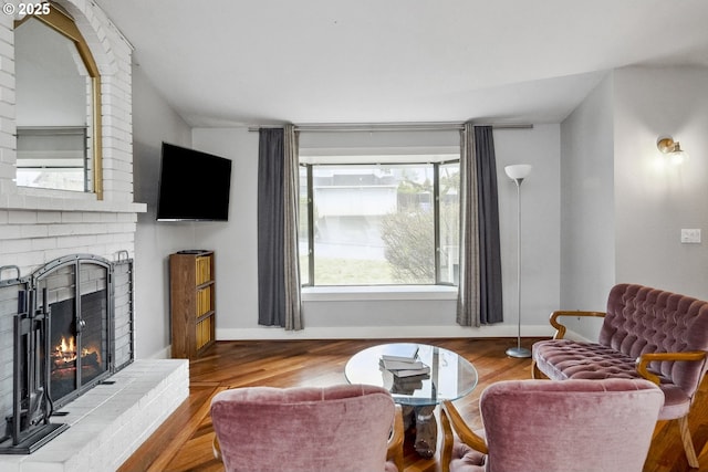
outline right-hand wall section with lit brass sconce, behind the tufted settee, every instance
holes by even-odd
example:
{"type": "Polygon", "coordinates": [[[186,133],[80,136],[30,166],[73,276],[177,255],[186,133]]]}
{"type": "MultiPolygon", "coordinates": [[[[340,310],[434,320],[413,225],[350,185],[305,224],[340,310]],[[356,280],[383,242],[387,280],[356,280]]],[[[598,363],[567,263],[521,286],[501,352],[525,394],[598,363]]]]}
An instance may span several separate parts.
{"type": "Polygon", "coordinates": [[[708,300],[708,69],[615,72],[616,279],[708,300]],[[690,154],[666,165],[670,135],[690,154]],[[680,229],[702,229],[681,244],[680,229]]]}

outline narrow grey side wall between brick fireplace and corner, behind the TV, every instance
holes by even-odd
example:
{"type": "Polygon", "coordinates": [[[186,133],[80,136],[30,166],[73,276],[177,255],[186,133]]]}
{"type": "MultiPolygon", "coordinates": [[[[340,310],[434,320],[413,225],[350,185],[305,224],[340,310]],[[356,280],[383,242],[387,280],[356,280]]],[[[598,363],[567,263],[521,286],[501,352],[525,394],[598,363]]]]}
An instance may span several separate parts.
{"type": "Polygon", "coordinates": [[[168,357],[170,345],[167,256],[195,245],[192,223],[156,222],[160,146],[190,146],[189,126],[169,107],[139,66],[133,66],[135,197],[147,203],[135,237],[136,358],[168,357]]]}

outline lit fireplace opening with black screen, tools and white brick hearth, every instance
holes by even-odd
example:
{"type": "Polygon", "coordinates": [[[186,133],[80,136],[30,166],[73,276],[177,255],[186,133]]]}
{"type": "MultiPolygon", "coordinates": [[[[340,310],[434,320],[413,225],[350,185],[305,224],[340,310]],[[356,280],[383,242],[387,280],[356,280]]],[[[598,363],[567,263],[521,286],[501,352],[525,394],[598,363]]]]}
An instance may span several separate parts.
{"type": "Polygon", "coordinates": [[[0,326],[14,332],[1,470],[115,470],[187,398],[187,360],[134,360],[133,261],[121,254],[66,255],[27,276],[0,268],[0,326]]]}

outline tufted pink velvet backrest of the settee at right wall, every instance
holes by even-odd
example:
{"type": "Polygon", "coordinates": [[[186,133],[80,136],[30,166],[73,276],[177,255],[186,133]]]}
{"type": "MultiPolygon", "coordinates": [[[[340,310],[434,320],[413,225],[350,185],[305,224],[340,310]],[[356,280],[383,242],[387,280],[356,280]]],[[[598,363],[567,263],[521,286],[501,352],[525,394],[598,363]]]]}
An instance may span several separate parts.
{"type": "MultiPolygon", "coordinates": [[[[708,352],[708,302],[636,284],[618,284],[607,297],[598,343],[636,358],[644,353],[708,352]]],[[[693,396],[705,363],[653,363],[693,396]]]]}

